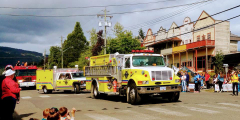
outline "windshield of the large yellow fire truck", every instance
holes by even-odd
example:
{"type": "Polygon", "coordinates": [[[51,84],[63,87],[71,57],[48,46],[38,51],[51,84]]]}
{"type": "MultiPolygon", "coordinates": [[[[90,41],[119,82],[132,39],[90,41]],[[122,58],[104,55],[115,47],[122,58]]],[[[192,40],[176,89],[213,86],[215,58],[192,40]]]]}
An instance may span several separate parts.
{"type": "Polygon", "coordinates": [[[133,56],[132,64],[139,66],[164,66],[164,60],[161,56],[133,56]]]}

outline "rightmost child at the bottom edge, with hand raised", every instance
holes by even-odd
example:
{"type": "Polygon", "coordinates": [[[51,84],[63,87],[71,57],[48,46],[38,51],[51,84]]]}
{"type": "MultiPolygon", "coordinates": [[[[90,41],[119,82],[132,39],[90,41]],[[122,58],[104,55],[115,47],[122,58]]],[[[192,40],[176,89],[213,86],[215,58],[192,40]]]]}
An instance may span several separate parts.
{"type": "Polygon", "coordinates": [[[61,120],[74,120],[76,109],[72,108],[72,117],[69,115],[69,111],[66,107],[59,108],[59,114],[61,115],[61,120]]]}

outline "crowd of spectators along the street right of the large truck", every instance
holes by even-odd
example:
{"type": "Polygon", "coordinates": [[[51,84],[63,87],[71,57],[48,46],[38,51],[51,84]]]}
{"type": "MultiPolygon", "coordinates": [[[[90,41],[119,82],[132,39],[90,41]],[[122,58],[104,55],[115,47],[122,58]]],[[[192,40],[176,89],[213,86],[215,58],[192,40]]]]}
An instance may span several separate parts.
{"type": "MultiPolygon", "coordinates": [[[[188,92],[189,89],[189,74],[187,72],[182,71],[179,76],[182,85],[182,92],[188,92]]],[[[194,73],[194,92],[200,93],[201,89],[205,88],[210,89],[213,87],[215,89],[215,85],[219,86],[218,93],[223,92],[224,84],[232,84],[233,96],[238,96],[238,86],[239,86],[239,71],[229,71],[228,74],[224,75],[222,72],[215,73],[215,75],[210,75],[208,72],[205,73],[194,73]]]]}

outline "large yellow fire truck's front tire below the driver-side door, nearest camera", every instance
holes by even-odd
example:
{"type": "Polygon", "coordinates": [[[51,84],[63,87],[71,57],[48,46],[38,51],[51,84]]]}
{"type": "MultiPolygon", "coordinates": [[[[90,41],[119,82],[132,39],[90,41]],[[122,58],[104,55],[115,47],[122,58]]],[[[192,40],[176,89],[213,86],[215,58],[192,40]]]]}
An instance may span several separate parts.
{"type": "Polygon", "coordinates": [[[136,105],[141,101],[141,97],[137,92],[137,87],[135,84],[132,83],[129,86],[129,92],[128,92],[127,97],[128,97],[127,101],[132,105],[136,105]]]}

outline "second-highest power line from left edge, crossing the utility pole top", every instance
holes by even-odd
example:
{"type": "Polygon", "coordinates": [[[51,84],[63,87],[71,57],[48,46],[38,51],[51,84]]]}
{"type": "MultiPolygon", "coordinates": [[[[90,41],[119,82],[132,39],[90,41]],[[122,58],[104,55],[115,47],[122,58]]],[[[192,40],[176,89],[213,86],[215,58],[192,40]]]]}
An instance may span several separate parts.
{"type": "MultiPolygon", "coordinates": [[[[194,2],[189,4],[182,4],[182,5],[175,5],[175,6],[169,6],[169,7],[162,7],[162,8],[154,8],[154,9],[145,9],[145,10],[138,10],[138,11],[130,11],[130,12],[116,12],[116,13],[109,13],[107,15],[114,15],[114,14],[130,14],[130,13],[136,13],[136,12],[147,12],[147,11],[155,11],[155,10],[162,10],[162,9],[169,9],[169,8],[176,8],[176,7],[183,7],[188,5],[194,5],[194,4],[200,4],[204,2],[208,2],[212,0],[203,0],[200,2],[194,2]]],[[[86,16],[96,16],[96,14],[85,14],[85,15],[20,15],[20,14],[0,14],[0,15],[6,15],[6,16],[20,16],[20,17],[86,17],[86,16]]]]}

